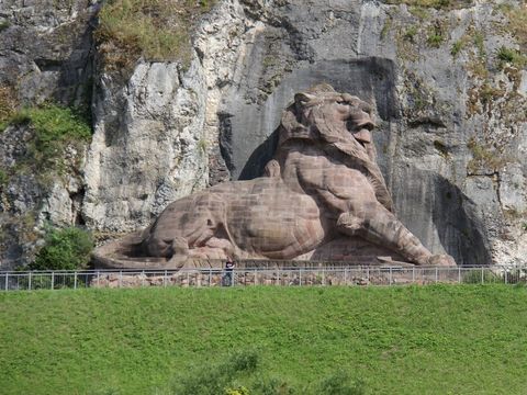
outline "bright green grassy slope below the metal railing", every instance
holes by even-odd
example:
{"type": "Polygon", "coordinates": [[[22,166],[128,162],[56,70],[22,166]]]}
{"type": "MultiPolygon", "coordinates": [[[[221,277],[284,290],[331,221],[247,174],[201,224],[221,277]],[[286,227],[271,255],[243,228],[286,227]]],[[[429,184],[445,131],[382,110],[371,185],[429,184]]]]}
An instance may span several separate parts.
{"type": "Polygon", "coordinates": [[[526,328],[520,286],[10,292],[0,393],[181,393],[249,350],[256,371],[228,386],[250,395],[273,393],[258,381],[316,393],[339,374],[361,384],[335,394],[525,394],[526,328]]]}

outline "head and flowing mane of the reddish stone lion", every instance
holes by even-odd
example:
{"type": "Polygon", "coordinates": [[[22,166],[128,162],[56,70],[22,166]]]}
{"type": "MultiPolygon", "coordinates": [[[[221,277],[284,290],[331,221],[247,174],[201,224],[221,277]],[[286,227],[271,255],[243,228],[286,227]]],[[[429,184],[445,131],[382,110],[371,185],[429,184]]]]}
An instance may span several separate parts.
{"type": "Polygon", "coordinates": [[[295,140],[319,144],[323,149],[328,148],[328,154],[337,149],[347,157],[347,165],[365,172],[379,201],[392,210],[390,193],[377,165],[371,138],[374,126],[367,102],[322,83],[294,95],[282,115],[278,149],[295,140]]]}

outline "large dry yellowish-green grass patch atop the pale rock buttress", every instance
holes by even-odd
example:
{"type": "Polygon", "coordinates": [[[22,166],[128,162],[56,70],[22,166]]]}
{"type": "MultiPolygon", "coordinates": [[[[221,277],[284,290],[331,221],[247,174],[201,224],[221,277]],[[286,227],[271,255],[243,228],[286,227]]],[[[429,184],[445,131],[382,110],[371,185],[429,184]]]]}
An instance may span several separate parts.
{"type": "Polygon", "coordinates": [[[99,13],[96,41],[108,70],[128,70],[147,60],[191,59],[190,31],[215,0],[112,0],[99,13]]]}

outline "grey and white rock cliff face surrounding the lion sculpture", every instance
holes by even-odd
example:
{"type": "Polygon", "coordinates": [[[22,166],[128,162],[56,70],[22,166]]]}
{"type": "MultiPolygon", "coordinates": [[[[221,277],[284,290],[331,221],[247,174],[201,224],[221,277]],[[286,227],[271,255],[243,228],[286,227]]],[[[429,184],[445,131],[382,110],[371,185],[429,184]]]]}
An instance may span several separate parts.
{"type": "MultiPolygon", "coordinates": [[[[70,187],[42,193],[10,181],[2,202],[12,206],[5,191],[33,196],[48,213],[36,218],[100,233],[145,226],[179,196],[259,174],[292,93],[326,81],[377,109],[396,214],[426,247],[461,264],[523,262],[525,4],[390,2],[218,0],[193,34],[189,68],[139,60],[126,81],[92,68],[97,2],[3,2],[0,82],[32,103],[71,104],[93,87],[94,134],[70,187]],[[71,26],[78,33],[59,42],[71,26]]],[[[4,131],[2,146],[24,133],[4,131]]],[[[24,212],[5,204],[4,216],[24,212]]]]}

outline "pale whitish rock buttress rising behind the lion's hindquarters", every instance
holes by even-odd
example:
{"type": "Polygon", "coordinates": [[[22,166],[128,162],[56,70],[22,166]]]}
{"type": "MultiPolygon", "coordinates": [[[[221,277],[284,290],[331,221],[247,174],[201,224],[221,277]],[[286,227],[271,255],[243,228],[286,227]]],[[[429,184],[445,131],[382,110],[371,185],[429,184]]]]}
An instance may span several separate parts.
{"type": "Polygon", "coordinates": [[[132,230],[177,198],[203,188],[204,95],[195,63],[141,64],[126,86],[96,84],[94,135],[82,213],[103,232],[132,230]]]}

